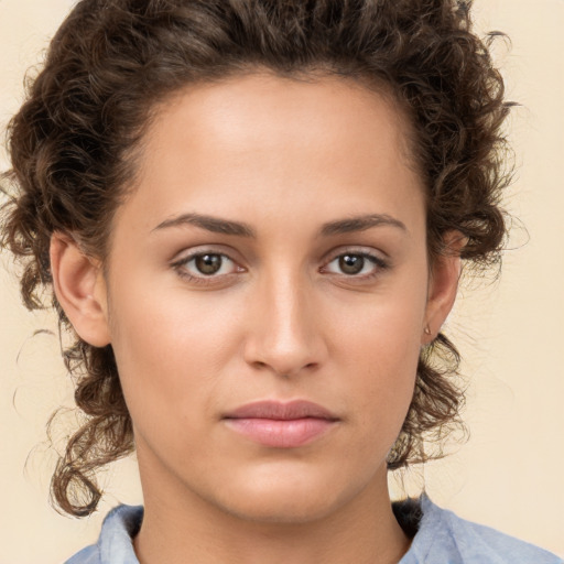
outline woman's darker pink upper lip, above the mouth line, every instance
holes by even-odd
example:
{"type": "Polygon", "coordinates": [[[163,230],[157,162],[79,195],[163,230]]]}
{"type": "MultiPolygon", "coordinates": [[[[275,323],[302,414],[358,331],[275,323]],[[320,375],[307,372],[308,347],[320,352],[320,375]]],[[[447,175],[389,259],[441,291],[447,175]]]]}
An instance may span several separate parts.
{"type": "Polygon", "coordinates": [[[225,419],[273,419],[280,421],[304,417],[338,420],[329,410],[305,400],[294,400],[285,403],[272,400],[257,401],[241,405],[225,415],[225,419]]]}

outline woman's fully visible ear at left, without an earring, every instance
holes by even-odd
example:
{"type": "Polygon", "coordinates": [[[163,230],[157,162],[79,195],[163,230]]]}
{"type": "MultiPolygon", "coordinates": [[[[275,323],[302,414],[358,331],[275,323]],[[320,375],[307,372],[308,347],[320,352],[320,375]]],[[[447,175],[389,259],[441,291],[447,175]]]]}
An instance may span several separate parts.
{"type": "Polygon", "coordinates": [[[78,336],[95,347],[110,343],[106,281],[98,261],[68,235],[51,237],[51,273],[58,303],[78,336]]]}

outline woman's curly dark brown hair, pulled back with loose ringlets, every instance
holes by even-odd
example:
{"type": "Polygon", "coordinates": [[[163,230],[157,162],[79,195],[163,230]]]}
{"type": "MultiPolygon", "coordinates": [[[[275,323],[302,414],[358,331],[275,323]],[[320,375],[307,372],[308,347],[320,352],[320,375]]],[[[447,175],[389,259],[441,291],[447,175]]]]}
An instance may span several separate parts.
{"type": "MultiPolygon", "coordinates": [[[[466,264],[499,262],[507,235],[500,198],[510,182],[502,123],[510,102],[491,62],[490,34],[471,29],[463,0],[83,0],[51,42],[8,128],[1,246],[22,265],[28,308],[53,306],[82,424],[52,479],[56,506],[91,513],[96,470],[134,448],[111,345],[82,340],[52,286],[50,240],[73,234],[108,254],[117,207],[134,188],[135,148],[159,102],[191,84],[267,69],[289,78],[336,76],[380,84],[409,118],[426,191],[431,258],[457,229],[466,264]]],[[[397,469],[442,455],[459,422],[459,355],[442,333],[424,347],[401,433],[397,469]]]]}

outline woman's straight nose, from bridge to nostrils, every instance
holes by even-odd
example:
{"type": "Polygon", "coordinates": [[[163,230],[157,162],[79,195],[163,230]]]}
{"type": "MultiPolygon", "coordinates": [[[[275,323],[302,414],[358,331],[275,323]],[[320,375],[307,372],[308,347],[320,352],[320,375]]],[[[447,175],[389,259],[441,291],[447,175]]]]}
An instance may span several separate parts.
{"type": "Polygon", "coordinates": [[[327,355],[315,289],[299,274],[258,284],[249,312],[245,359],[260,370],[293,377],[318,368],[327,355]]]}

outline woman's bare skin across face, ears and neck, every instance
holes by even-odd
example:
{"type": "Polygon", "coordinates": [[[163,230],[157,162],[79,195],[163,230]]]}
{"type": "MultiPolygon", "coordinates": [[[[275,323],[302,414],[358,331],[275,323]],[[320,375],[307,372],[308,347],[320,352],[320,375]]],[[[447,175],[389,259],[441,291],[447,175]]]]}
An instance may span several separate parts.
{"type": "Polygon", "coordinates": [[[406,133],[388,98],[343,79],[193,86],[145,134],[107,275],[53,236],[57,299],[85,340],[116,354],[144,494],[141,563],[373,564],[409,549],[386,457],[459,261],[427,262],[406,133]],[[321,235],[367,214],[384,221],[321,235]],[[204,251],[224,256],[217,273],[188,260],[204,251]],[[344,271],[339,257],[359,264],[359,252],[377,262],[344,271]],[[223,419],[264,399],[310,400],[338,421],[305,446],[273,448],[223,419]]]}

